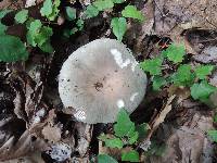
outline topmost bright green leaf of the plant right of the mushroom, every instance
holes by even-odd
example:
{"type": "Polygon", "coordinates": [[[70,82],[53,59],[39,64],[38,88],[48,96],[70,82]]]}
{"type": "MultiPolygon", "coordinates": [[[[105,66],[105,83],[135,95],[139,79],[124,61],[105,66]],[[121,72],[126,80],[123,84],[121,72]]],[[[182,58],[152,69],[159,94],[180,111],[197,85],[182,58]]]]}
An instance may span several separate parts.
{"type": "Polygon", "coordinates": [[[174,63],[180,63],[183,61],[183,55],[186,53],[184,45],[171,43],[166,50],[164,50],[163,55],[165,55],[169,61],[174,63]]]}

